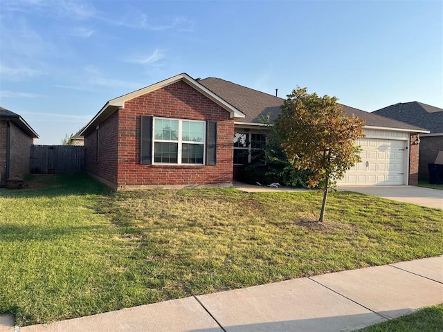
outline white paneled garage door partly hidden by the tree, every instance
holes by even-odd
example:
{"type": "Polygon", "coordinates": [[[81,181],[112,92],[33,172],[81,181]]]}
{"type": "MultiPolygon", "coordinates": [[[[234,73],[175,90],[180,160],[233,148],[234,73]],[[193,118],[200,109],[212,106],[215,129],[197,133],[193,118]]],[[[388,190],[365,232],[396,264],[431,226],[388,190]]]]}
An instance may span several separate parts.
{"type": "Polygon", "coordinates": [[[362,138],[361,163],[345,174],[338,185],[406,185],[405,140],[362,138]]]}

